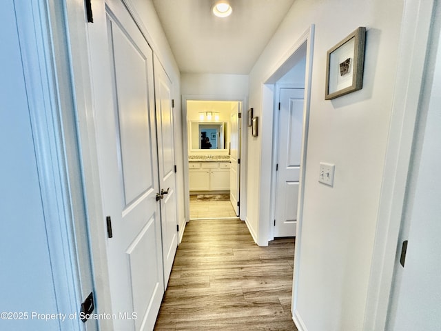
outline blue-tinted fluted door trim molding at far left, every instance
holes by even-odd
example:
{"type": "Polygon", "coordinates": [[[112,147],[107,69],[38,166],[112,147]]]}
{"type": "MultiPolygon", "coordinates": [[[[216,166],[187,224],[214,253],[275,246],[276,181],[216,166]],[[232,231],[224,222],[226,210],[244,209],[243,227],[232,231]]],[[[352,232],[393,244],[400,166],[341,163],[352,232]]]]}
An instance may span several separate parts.
{"type": "MultiPolygon", "coordinates": [[[[68,47],[70,20],[60,13],[75,20],[74,13],[80,12],[84,20],[84,9],[36,0],[14,1],[14,6],[57,307],[76,312],[85,293],[94,291],[94,279],[68,47]]],[[[80,319],[59,327],[84,328],[80,319]]],[[[98,323],[89,321],[88,330],[98,330],[98,323]]]]}

